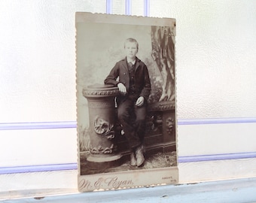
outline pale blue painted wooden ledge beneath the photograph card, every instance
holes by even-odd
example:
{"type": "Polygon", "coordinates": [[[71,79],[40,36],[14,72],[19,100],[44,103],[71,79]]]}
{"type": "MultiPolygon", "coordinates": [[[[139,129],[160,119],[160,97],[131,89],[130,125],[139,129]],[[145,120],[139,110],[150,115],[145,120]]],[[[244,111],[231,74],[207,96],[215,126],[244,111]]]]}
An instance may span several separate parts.
{"type": "Polygon", "coordinates": [[[256,177],[175,186],[85,192],[73,195],[49,196],[41,199],[24,198],[2,202],[256,202],[256,177]]]}

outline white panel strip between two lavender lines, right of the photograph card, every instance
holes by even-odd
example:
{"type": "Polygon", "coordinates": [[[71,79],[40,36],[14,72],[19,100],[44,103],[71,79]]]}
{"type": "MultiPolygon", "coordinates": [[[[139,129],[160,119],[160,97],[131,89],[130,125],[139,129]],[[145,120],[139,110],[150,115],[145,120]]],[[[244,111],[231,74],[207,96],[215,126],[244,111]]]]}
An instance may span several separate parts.
{"type": "Polygon", "coordinates": [[[178,156],[256,152],[256,123],[178,126],[178,156]]]}

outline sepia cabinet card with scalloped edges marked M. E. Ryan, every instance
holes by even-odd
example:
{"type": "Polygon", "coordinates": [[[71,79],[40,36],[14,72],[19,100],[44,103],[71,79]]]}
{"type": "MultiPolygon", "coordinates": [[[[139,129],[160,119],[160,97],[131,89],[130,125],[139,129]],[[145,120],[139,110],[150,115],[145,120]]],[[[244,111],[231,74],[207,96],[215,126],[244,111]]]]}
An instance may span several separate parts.
{"type": "Polygon", "coordinates": [[[178,182],[175,19],[76,13],[78,189],[178,182]]]}

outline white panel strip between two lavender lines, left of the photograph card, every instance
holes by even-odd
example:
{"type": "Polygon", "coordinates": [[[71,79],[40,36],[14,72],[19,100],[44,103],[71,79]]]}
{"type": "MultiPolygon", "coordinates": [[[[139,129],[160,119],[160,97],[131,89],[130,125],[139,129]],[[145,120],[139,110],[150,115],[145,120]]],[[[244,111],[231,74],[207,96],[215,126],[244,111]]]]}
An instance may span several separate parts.
{"type": "Polygon", "coordinates": [[[76,129],[0,130],[0,167],[77,162],[76,129]]]}

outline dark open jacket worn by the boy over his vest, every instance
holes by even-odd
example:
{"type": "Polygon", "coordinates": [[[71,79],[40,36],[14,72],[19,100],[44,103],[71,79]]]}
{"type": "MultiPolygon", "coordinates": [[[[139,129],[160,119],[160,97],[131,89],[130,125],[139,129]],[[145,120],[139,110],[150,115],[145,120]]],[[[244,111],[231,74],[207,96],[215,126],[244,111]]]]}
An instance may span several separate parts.
{"type": "MultiPolygon", "coordinates": [[[[148,68],[144,62],[136,57],[136,69],[135,69],[135,88],[136,92],[139,92],[138,96],[143,96],[145,101],[148,100],[148,96],[151,92],[151,82],[148,75],[148,68]]],[[[105,84],[112,84],[117,86],[118,83],[123,83],[128,91],[130,87],[130,76],[128,71],[128,65],[126,59],[120,60],[114,65],[114,68],[108,74],[108,77],[104,80],[105,84]],[[119,77],[119,81],[117,81],[119,77]]],[[[126,95],[127,96],[127,95],[126,95]]],[[[124,96],[123,98],[125,98],[124,96]]]]}

